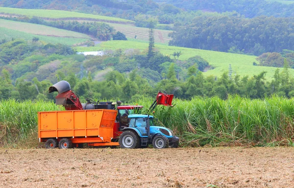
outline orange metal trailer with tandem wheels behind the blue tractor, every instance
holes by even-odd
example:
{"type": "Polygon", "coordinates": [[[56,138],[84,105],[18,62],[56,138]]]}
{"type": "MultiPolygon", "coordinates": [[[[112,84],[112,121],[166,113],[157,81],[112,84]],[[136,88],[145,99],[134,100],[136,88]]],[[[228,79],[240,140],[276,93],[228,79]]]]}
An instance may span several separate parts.
{"type": "Polygon", "coordinates": [[[111,141],[116,116],[117,110],[106,109],[38,112],[39,141],[47,148],[118,146],[111,141]]]}

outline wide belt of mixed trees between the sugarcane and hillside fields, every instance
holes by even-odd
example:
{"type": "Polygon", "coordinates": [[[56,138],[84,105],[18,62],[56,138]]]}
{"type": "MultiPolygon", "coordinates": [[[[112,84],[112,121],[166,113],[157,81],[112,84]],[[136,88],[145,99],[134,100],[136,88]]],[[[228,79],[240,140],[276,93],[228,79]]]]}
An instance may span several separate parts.
{"type": "Polygon", "coordinates": [[[221,77],[204,77],[201,71],[209,65],[207,61],[199,56],[181,61],[178,60],[180,55],[180,51],[174,52],[172,59],[149,45],[147,54],[140,51],[124,54],[117,50],[85,58],[65,45],[16,39],[0,46],[1,98],[53,99],[48,88],[59,80],[69,81],[81,98],[123,101],[136,100],[142,95],[154,96],[158,90],[173,93],[178,98],[217,95],[225,99],[228,94],[250,98],[261,98],[265,94],[294,95],[294,78],[289,73],[287,59],[284,60],[285,68],[276,70],[274,78],[267,81],[265,71],[252,77],[229,76],[226,71],[221,77]],[[114,71],[106,73],[103,81],[96,81],[92,72],[109,67],[114,71]]]}

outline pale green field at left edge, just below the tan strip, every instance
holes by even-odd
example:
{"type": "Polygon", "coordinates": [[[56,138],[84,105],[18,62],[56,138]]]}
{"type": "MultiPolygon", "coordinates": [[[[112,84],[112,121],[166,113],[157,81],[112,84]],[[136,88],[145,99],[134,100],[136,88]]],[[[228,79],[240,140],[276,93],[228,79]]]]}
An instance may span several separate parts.
{"type": "Polygon", "coordinates": [[[52,36],[44,36],[44,35],[34,35],[30,33],[25,33],[21,31],[16,31],[13,29],[7,29],[4,27],[0,27],[0,40],[6,38],[8,40],[11,40],[11,38],[22,38],[25,40],[32,40],[34,37],[38,37],[40,41],[44,41],[46,43],[61,43],[64,45],[74,45],[79,44],[87,41],[88,39],[82,39],[82,38],[68,38],[68,37],[52,37],[52,36]]]}

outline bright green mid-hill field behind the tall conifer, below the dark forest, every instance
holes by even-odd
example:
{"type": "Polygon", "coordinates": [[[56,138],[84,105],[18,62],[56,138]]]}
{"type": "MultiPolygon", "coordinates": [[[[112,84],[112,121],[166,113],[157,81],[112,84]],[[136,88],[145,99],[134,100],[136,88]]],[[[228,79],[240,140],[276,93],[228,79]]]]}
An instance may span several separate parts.
{"type": "MultiPolygon", "coordinates": [[[[147,49],[148,43],[140,43],[134,41],[107,41],[102,42],[96,47],[75,47],[77,51],[96,51],[101,49],[129,49],[129,48],[138,48],[141,50],[147,49]]],[[[229,64],[231,64],[233,75],[235,73],[244,76],[249,75],[253,76],[262,71],[267,71],[266,78],[271,80],[274,75],[274,71],[277,68],[273,67],[261,67],[253,66],[253,62],[258,63],[255,58],[256,56],[235,54],[235,53],[225,53],[218,51],[209,51],[201,49],[192,49],[185,47],[171,47],[167,45],[155,45],[155,48],[158,49],[161,53],[165,55],[171,55],[174,51],[181,51],[182,55],[179,57],[180,60],[186,60],[189,57],[196,55],[201,56],[209,62],[211,66],[215,69],[204,72],[203,74],[221,76],[224,71],[228,71],[229,64]]],[[[172,56],[171,56],[172,57],[172,56]]],[[[172,57],[173,58],[173,57],[172,57]]],[[[282,69],[280,69],[282,71],[282,69]]],[[[294,70],[289,70],[291,74],[294,74],[294,70]]]]}

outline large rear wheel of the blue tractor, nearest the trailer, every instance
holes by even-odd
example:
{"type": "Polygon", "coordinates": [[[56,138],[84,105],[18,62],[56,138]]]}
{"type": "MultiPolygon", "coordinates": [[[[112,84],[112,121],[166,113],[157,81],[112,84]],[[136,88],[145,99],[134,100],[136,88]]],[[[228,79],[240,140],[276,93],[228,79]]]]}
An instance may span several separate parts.
{"type": "Polygon", "coordinates": [[[138,135],[132,131],[124,131],[119,140],[121,148],[134,149],[140,145],[140,139],[138,135]]]}

